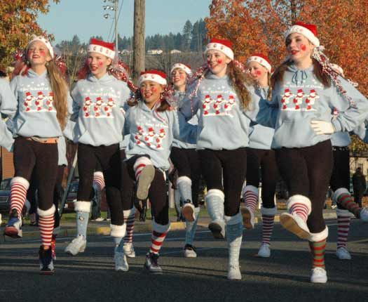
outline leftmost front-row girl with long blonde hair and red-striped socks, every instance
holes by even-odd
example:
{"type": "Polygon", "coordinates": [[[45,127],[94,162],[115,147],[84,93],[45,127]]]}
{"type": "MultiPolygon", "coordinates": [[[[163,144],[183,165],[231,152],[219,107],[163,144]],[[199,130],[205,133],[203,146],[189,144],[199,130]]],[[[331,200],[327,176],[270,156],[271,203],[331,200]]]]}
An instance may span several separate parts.
{"type": "Polygon", "coordinates": [[[32,172],[38,184],[41,274],[54,272],[50,249],[54,227],[53,192],[57,178],[57,141],[67,124],[69,93],[54,61],[53,47],[44,37],[32,37],[27,62],[11,81],[15,177],[11,181],[11,214],[5,235],[22,237],[22,208],[32,172]],[[51,105],[48,101],[52,100],[51,105]]]}

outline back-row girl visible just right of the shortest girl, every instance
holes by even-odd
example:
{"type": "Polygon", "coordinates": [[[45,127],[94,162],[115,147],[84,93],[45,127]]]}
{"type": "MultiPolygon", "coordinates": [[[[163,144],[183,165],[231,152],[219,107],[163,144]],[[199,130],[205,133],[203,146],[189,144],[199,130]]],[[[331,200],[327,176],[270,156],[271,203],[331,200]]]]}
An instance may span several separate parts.
{"type": "MultiPolygon", "coordinates": [[[[176,100],[176,103],[172,105],[177,108],[182,107],[186,83],[189,77],[191,77],[191,67],[183,63],[172,65],[171,80],[175,89],[174,99],[176,100]]],[[[189,123],[198,124],[198,118],[194,116],[189,123]]],[[[179,190],[179,195],[184,201],[182,207],[182,214],[186,224],[184,256],[194,258],[197,254],[196,248],[193,247],[193,239],[194,235],[196,235],[200,212],[198,204],[200,163],[196,145],[174,139],[170,159],[177,169],[177,190],[179,190]]]]}

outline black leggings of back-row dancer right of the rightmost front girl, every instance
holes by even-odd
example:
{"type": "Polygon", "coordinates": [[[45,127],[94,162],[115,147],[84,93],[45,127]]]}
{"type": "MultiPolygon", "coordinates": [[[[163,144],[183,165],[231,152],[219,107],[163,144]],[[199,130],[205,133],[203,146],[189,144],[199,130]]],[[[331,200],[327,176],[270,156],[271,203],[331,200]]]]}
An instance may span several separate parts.
{"type": "MultiPolygon", "coordinates": [[[[350,187],[350,155],[348,147],[332,147],[334,154],[334,167],[332,169],[331,180],[329,185],[335,192],[339,188],[350,187]]],[[[345,209],[337,203],[339,209],[345,209]]]]}

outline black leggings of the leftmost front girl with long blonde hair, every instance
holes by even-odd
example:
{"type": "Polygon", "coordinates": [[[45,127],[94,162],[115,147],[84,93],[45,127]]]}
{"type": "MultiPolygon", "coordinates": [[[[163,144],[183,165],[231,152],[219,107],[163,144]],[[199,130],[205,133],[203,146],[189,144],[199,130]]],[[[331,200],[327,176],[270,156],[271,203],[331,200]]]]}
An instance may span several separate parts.
{"type": "Polygon", "coordinates": [[[57,143],[39,143],[22,136],[15,138],[14,176],[25,178],[29,183],[34,176],[38,189],[39,209],[43,211],[53,206],[57,159],[57,143]]]}

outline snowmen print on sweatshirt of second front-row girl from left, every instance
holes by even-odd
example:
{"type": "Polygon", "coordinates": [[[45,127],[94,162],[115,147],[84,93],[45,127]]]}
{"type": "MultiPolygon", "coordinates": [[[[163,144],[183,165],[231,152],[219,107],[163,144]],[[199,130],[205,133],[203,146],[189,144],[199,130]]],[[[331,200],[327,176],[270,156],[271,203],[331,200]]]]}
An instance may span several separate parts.
{"type": "Polygon", "coordinates": [[[112,87],[81,88],[82,114],[83,117],[94,119],[113,119],[116,100],[121,98],[121,91],[116,91],[112,87]]]}

